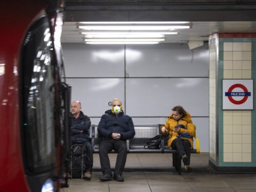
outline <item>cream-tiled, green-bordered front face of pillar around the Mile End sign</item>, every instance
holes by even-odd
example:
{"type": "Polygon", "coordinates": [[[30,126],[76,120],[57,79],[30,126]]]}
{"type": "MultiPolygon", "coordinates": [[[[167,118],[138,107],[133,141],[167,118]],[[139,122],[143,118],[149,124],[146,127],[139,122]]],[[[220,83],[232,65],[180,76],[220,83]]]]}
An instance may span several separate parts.
{"type": "MultiPolygon", "coordinates": [[[[219,37],[219,90],[222,90],[222,79],[253,79],[253,39],[244,35],[219,37]]],[[[254,165],[254,111],[222,110],[222,92],[219,104],[219,166],[254,165]]]]}

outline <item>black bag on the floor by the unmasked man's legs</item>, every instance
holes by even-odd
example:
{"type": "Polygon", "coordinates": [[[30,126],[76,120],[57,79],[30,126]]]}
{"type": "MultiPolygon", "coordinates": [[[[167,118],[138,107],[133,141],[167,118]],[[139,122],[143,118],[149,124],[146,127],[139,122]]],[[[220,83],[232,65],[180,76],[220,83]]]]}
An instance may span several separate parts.
{"type": "Polygon", "coordinates": [[[82,144],[71,146],[69,171],[71,178],[83,178],[85,171],[86,148],[82,144]]]}

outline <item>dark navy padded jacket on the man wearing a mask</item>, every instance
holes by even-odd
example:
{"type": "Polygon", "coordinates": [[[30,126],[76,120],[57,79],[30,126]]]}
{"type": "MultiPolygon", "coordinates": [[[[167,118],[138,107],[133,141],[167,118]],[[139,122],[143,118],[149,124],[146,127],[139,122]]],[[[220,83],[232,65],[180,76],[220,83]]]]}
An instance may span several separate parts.
{"type": "Polygon", "coordinates": [[[133,138],[135,135],[132,118],[128,115],[124,115],[123,112],[118,113],[118,116],[116,116],[111,110],[107,110],[105,114],[101,116],[98,132],[101,138],[112,138],[112,133],[121,133],[121,140],[133,138]]]}

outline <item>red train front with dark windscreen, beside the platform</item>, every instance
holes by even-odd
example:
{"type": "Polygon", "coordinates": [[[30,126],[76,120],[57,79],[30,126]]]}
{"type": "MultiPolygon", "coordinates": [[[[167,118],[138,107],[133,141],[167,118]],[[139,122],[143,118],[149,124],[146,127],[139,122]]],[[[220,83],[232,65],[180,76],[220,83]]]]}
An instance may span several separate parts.
{"type": "Polygon", "coordinates": [[[0,191],[60,191],[69,146],[60,0],[1,1],[0,191]]]}

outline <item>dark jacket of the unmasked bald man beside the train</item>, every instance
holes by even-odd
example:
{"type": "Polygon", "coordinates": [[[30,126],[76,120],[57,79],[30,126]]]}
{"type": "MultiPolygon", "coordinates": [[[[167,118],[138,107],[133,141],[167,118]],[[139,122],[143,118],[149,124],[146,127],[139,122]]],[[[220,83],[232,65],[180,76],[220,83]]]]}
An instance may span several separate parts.
{"type": "Polygon", "coordinates": [[[72,142],[84,143],[85,141],[90,141],[91,121],[87,115],[80,111],[80,115],[76,119],[72,113],[69,113],[69,125],[71,127],[72,142]]]}

